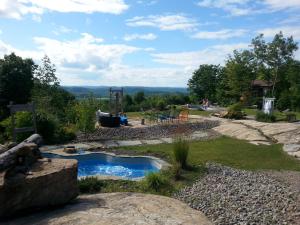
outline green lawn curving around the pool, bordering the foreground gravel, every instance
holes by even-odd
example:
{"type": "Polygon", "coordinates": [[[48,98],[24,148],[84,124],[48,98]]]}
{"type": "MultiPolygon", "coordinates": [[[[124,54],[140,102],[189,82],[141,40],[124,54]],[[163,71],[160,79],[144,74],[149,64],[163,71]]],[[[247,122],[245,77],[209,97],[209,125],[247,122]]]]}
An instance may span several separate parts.
{"type": "MultiPolygon", "coordinates": [[[[133,151],[135,155],[155,155],[174,165],[172,144],[122,147],[115,150],[123,154],[133,151]]],[[[204,165],[206,162],[216,162],[245,170],[300,171],[300,161],[283,152],[282,146],[279,144],[256,146],[243,140],[221,137],[214,140],[191,142],[188,157],[190,169],[182,170],[181,179],[179,180],[174,178],[174,168],[162,171],[160,176],[166,184],[162,185],[159,191],[154,191],[147,187],[147,182],[145,181],[111,180],[96,180],[92,184],[80,181],[80,185],[85,187],[85,189],[80,188],[80,190],[83,190],[83,193],[134,191],[171,195],[203,176],[205,174],[204,165]],[[94,186],[97,189],[96,191],[93,191],[94,186]],[[87,190],[86,187],[92,188],[91,190],[87,190]]]]}

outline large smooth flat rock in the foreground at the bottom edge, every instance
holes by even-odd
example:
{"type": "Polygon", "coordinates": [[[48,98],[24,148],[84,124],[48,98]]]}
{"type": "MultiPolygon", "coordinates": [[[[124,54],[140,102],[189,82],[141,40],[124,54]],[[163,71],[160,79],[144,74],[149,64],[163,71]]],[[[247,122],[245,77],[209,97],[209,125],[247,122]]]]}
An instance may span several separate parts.
{"type": "Polygon", "coordinates": [[[201,212],[176,199],[140,193],[83,195],[64,208],[7,224],[212,225],[201,212]]]}

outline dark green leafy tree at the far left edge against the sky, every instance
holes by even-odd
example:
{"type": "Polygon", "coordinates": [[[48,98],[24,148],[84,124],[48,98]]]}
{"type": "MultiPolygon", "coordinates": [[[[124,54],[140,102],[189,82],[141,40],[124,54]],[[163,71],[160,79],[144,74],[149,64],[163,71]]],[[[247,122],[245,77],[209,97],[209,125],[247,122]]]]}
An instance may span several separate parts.
{"type": "Polygon", "coordinates": [[[31,59],[22,59],[14,53],[0,59],[0,119],[8,116],[10,101],[18,104],[30,101],[33,65],[31,59]]]}

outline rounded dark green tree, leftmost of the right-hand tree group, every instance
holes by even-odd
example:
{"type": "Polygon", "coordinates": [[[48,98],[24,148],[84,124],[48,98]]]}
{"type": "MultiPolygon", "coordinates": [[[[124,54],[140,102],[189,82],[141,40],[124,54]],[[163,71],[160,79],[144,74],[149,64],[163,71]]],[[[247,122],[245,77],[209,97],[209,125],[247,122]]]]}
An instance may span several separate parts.
{"type": "Polygon", "coordinates": [[[216,100],[216,88],[221,67],[216,65],[200,65],[194,71],[192,78],[188,81],[188,86],[192,95],[198,99],[208,98],[216,100]]]}

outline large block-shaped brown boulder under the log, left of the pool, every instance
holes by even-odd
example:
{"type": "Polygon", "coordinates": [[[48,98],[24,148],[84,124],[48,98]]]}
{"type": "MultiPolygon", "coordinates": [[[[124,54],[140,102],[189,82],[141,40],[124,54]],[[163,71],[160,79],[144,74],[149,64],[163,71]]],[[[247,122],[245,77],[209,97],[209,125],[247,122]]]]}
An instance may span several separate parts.
{"type": "Polygon", "coordinates": [[[0,173],[0,217],[62,205],[77,195],[76,160],[39,159],[26,174],[0,173]]]}

